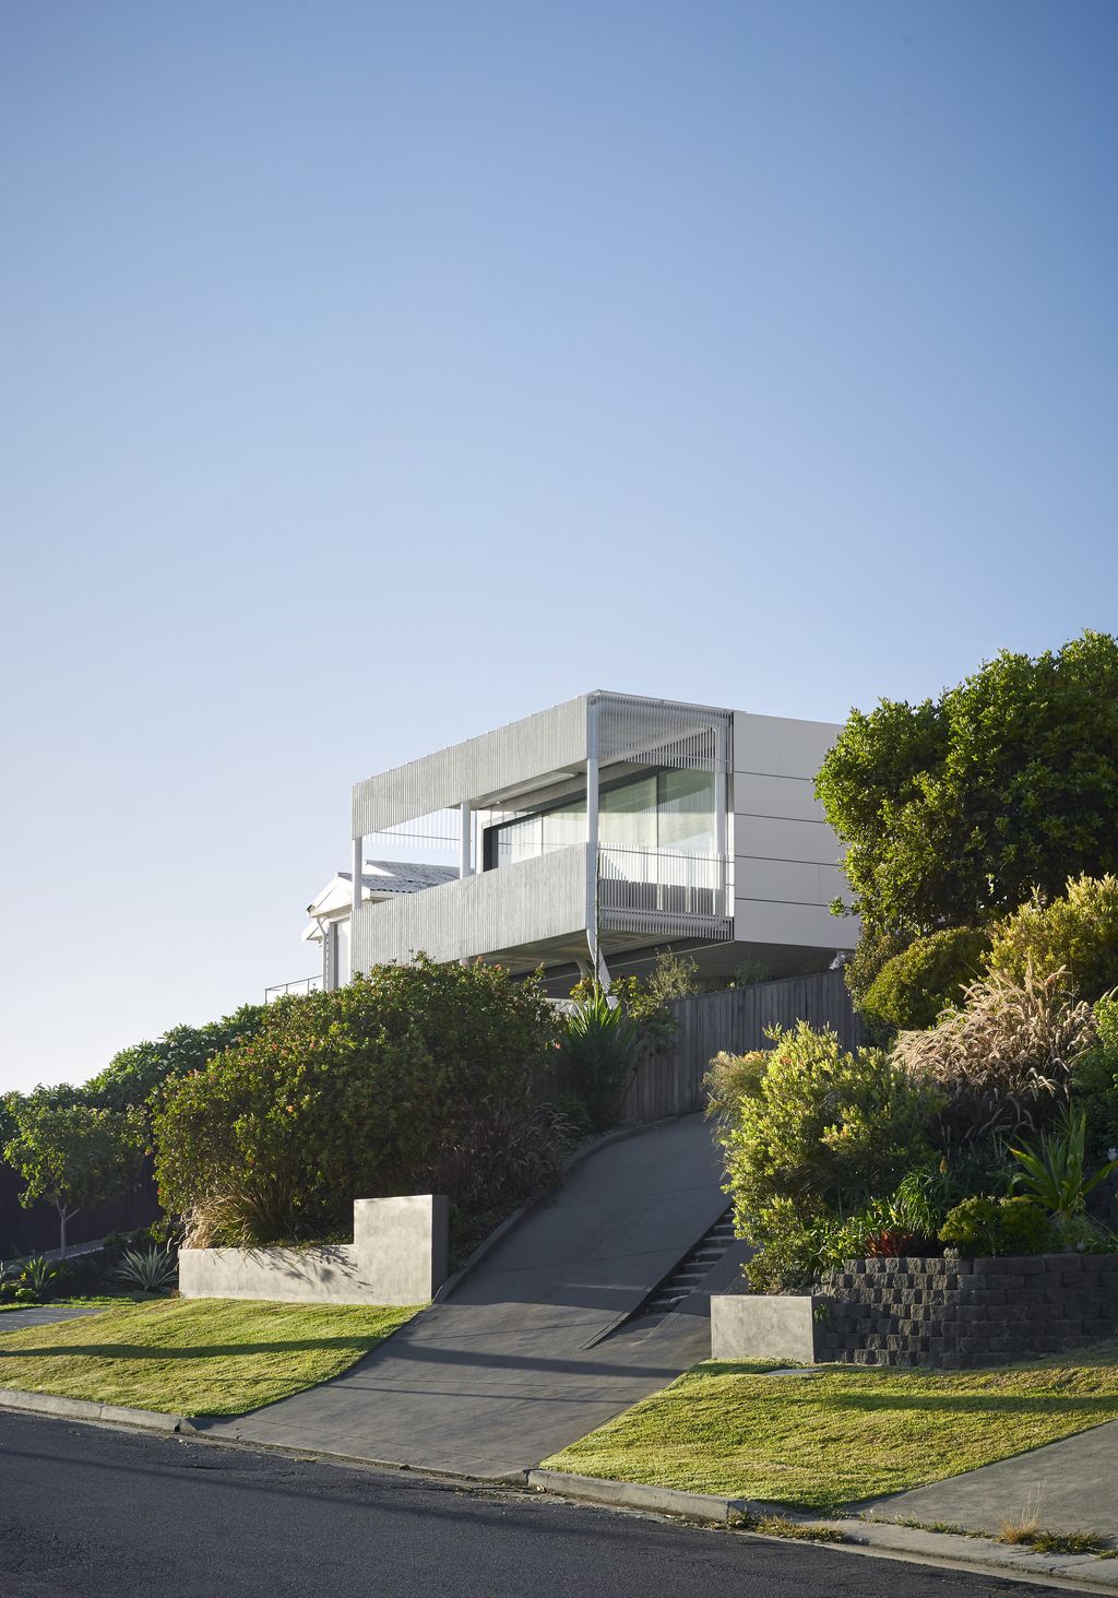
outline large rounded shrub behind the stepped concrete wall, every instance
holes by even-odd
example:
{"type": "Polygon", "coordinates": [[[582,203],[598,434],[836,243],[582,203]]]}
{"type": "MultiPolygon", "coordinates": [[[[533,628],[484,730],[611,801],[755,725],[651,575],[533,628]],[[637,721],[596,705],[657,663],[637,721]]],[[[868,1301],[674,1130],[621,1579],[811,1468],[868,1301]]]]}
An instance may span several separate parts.
{"type": "Polygon", "coordinates": [[[527,1106],[554,1037],[538,983],[482,962],[420,956],[281,999],[169,1085],[161,1200],[193,1245],[345,1232],[355,1197],[425,1191],[481,1103],[527,1106]]]}

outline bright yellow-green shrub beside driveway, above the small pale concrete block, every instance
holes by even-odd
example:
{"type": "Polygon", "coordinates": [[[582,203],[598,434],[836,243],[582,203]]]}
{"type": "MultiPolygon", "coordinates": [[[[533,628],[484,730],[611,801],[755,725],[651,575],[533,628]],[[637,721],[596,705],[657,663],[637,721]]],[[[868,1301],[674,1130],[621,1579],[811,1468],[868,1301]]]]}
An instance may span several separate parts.
{"type": "MultiPolygon", "coordinates": [[[[846,1053],[832,1031],[805,1021],[770,1036],[770,1053],[744,1056],[736,1103],[727,1095],[716,1123],[738,1230],[754,1243],[775,1200],[811,1222],[893,1192],[930,1159],[928,1125],[941,1107],[939,1091],[883,1050],[846,1053]]],[[[717,1067],[724,1082],[733,1069],[717,1067]]]]}

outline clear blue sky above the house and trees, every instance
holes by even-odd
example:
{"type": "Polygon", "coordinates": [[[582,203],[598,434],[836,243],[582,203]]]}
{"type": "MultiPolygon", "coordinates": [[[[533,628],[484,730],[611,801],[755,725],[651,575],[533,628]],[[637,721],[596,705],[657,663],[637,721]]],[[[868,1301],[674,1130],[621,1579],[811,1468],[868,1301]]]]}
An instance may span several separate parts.
{"type": "Polygon", "coordinates": [[[8,0],[0,1087],[303,975],[353,780],[1118,630],[1113,0],[8,0]]]}

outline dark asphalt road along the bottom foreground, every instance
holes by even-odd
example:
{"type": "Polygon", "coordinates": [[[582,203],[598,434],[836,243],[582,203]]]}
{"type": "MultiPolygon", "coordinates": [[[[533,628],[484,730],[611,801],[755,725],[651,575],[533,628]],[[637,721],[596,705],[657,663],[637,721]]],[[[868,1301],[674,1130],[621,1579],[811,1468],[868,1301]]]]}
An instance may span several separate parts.
{"type": "Polygon", "coordinates": [[[1029,1598],[1051,1588],[0,1414],[3,1598],[1029,1598]]]}

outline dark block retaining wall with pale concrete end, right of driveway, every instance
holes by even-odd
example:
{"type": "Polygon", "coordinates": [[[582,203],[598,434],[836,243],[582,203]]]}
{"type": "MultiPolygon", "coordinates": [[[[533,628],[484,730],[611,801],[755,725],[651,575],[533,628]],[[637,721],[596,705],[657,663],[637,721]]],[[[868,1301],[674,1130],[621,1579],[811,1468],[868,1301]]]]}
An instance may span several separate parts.
{"type": "Polygon", "coordinates": [[[853,1259],[802,1298],[711,1299],[716,1360],[989,1365],[1118,1336],[1118,1254],[853,1259]]]}

